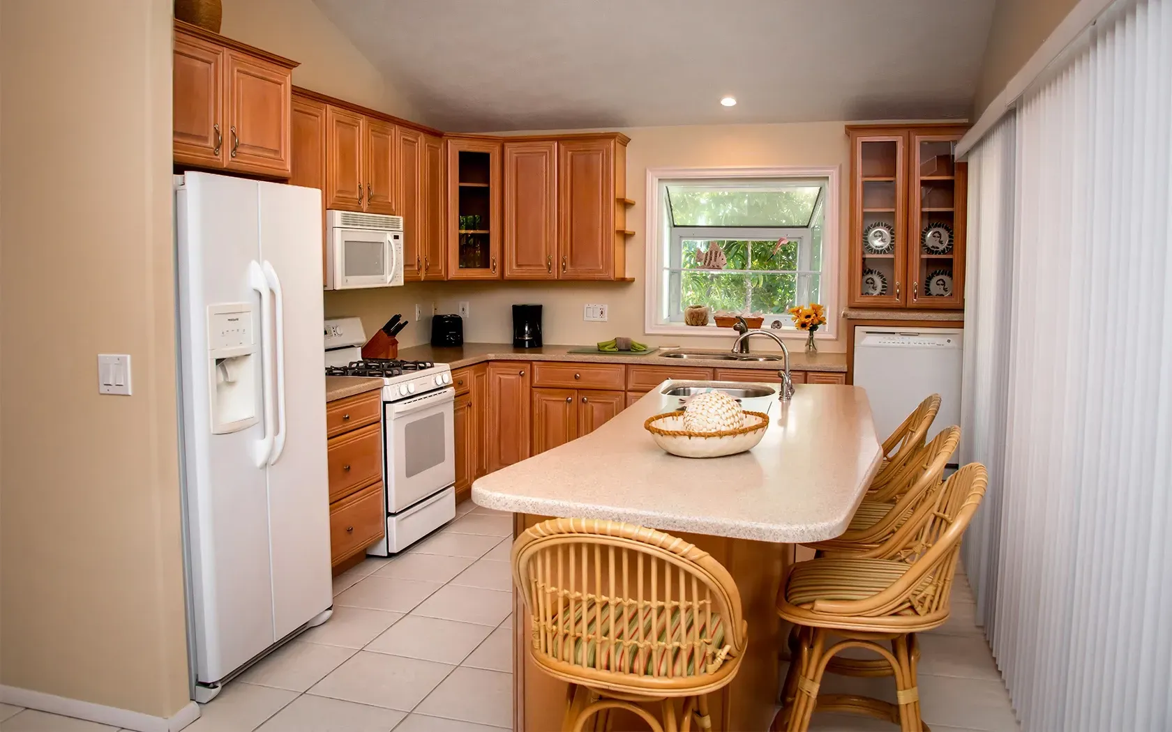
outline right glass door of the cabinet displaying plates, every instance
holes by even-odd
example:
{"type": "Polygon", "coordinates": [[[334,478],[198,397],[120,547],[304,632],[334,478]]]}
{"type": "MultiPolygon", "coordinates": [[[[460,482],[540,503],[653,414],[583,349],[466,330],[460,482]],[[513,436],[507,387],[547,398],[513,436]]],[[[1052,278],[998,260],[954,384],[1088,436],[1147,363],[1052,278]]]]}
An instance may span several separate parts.
{"type": "Polygon", "coordinates": [[[912,130],[908,149],[908,307],[965,307],[967,165],[956,162],[962,129],[912,130]]]}

